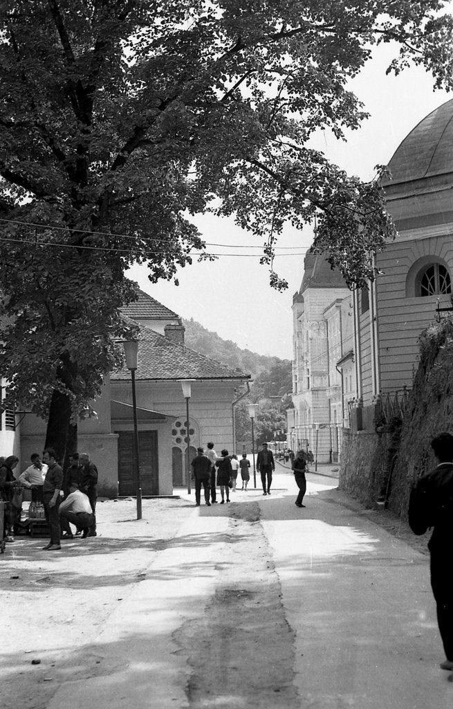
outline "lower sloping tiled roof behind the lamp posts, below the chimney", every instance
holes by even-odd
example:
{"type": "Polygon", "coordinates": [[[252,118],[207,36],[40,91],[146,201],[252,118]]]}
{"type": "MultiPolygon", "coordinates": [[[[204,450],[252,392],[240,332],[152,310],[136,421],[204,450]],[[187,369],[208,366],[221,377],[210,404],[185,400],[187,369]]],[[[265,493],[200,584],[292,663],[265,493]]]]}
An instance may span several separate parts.
{"type": "MultiPolygon", "coordinates": [[[[136,379],[250,379],[250,374],[236,372],[205,354],[179,345],[150,328],[140,328],[138,368],[136,379]]],[[[110,374],[112,381],[130,379],[130,372],[123,367],[110,374]]]]}

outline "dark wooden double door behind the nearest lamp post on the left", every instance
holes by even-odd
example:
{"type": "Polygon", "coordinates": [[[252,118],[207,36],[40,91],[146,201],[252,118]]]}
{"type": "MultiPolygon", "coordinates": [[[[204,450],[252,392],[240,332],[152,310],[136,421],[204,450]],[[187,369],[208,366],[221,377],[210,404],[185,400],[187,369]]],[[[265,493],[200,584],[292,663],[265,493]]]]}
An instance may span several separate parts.
{"type": "MultiPolygon", "coordinates": [[[[118,493],[120,497],[135,496],[134,432],[118,431],[118,435],[118,493]]],[[[159,495],[157,431],[139,431],[139,454],[142,495],[159,495]]]]}

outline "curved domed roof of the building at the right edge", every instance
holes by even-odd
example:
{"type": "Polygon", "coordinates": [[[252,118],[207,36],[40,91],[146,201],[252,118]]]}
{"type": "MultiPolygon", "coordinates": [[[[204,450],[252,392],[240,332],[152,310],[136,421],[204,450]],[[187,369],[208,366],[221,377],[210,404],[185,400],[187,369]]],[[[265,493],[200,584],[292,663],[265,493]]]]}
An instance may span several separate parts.
{"type": "Polygon", "coordinates": [[[411,130],[388,167],[393,179],[387,185],[453,172],[453,99],[411,130]]]}

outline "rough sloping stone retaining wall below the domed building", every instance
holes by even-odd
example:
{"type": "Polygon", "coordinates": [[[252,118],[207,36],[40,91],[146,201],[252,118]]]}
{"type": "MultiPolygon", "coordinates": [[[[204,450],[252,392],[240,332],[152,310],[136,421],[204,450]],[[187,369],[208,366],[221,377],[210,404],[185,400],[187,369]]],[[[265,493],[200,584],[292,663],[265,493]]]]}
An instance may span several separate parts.
{"type": "Polygon", "coordinates": [[[430,441],[453,433],[453,321],[420,335],[420,364],[403,416],[377,430],[343,430],[340,488],[403,518],[418,476],[435,466],[430,441]]]}

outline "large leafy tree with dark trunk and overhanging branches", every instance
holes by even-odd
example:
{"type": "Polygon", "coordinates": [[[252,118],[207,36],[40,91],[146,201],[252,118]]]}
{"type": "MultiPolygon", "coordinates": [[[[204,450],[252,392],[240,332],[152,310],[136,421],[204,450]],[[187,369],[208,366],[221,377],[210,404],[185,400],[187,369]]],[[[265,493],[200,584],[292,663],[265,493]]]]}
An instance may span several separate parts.
{"type": "Polygon", "coordinates": [[[175,277],[203,244],[191,216],[234,215],[273,247],[318,220],[315,247],[350,284],[393,234],[377,182],[307,143],[365,116],[347,82],[372,46],[398,72],[452,82],[437,0],[2,0],[0,288],[6,400],[49,420],[64,452],[118,360],[124,273],[175,277]]]}

